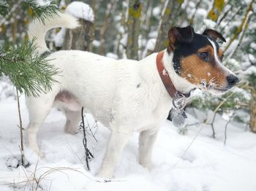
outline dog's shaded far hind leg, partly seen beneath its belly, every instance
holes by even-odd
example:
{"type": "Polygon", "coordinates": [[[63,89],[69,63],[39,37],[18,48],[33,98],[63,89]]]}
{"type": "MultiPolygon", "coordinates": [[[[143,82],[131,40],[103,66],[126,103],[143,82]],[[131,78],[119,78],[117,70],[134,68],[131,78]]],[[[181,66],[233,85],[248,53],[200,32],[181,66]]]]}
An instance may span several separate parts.
{"type": "Polygon", "coordinates": [[[65,115],[67,117],[67,121],[64,126],[64,130],[66,133],[74,135],[78,130],[78,125],[81,120],[81,112],[65,110],[65,115]]]}

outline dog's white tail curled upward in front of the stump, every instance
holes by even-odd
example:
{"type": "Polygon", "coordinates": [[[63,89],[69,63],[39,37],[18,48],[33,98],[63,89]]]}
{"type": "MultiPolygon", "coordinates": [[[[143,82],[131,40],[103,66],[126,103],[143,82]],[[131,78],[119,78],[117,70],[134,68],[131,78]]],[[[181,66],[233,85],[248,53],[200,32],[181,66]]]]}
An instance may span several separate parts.
{"type": "Polygon", "coordinates": [[[59,12],[56,17],[51,17],[42,23],[40,20],[33,20],[29,24],[29,40],[34,39],[34,43],[37,46],[37,52],[40,54],[49,51],[45,43],[45,34],[51,28],[65,27],[76,28],[79,26],[78,19],[68,15],[67,13],[59,12]]]}

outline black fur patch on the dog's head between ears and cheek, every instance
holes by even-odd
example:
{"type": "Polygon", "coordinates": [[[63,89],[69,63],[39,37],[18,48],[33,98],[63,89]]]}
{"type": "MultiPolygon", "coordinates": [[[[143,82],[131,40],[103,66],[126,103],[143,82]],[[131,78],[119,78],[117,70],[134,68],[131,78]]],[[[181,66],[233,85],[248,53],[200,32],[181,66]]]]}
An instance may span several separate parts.
{"type": "Polygon", "coordinates": [[[214,42],[217,47],[217,51],[219,51],[219,44],[210,36],[202,34],[194,34],[194,39],[192,42],[177,42],[174,44],[175,50],[173,52],[173,68],[176,71],[176,74],[181,73],[181,58],[197,54],[200,48],[208,45],[212,47],[212,44],[208,39],[211,39],[211,41],[214,42]]]}

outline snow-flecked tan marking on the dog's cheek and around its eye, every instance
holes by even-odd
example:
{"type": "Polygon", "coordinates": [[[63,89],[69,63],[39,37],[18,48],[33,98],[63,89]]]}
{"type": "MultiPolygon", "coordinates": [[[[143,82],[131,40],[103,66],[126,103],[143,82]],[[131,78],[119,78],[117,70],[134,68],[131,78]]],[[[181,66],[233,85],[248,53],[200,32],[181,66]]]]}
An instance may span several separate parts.
{"type": "Polygon", "coordinates": [[[214,60],[213,48],[203,47],[198,52],[208,52],[211,56],[210,61],[203,61],[197,54],[181,58],[181,77],[194,85],[200,85],[203,81],[208,84],[214,83],[219,87],[225,85],[226,75],[214,60]],[[190,77],[187,77],[187,74],[190,74],[190,77]]]}

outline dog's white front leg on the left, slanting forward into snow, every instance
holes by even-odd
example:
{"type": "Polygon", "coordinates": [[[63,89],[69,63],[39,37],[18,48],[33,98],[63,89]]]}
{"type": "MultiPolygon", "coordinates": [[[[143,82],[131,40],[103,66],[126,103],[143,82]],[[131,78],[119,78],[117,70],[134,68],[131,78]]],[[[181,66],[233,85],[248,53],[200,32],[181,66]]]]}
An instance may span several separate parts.
{"type": "Polygon", "coordinates": [[[115,171],[116,165],[119,162],[121,153],[131,136],[132,133],[124,133],[118,130],[112,130],[108,148],[105,153],[105,158],[97,176],[105,179],[110,179],[113,177],[113,173],[115,171]]]}

